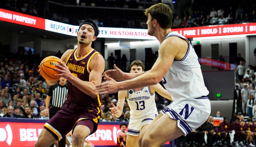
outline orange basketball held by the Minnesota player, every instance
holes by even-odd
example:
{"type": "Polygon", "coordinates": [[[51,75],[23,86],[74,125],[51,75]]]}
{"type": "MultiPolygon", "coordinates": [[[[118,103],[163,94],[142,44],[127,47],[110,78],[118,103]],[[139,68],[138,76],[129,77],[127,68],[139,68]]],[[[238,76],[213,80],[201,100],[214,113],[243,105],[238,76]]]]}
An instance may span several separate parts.
{"type": "MultiPolygon", "coordinates": [[[[59,74],[59,72],[55,71],[54,68],[57,68],[55,65],[59,64],[58,61],[61,62],[60,58],[55,56],[48,56],[42,60],[39,66],[40,73],[45,80],[58,80],[61,76],[54,76],[55,74],[59,74]]],[[[59,69],[59,68],[57,68],[59,69]]]]}

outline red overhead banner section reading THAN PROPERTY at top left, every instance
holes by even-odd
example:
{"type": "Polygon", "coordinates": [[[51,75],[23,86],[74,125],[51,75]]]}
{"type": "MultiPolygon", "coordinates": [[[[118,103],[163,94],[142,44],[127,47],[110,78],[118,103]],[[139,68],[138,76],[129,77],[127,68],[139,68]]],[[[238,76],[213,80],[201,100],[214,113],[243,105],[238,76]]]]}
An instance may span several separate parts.
{"type": "Polygon", "coordinates": [[[39,18],[5,9],[0,9],[0,20],[23,26],[31,26],[43,30],[45,29],[44,18],[39,18]]]}

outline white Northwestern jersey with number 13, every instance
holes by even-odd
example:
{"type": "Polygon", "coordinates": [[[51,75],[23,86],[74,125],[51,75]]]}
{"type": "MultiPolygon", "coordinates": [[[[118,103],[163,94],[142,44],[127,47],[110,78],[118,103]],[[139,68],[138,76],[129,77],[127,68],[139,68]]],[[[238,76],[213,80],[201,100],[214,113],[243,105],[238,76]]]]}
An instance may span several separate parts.
{"type": "Polygon", "coordinates": [[[149,114],[158,114],[155,103],[155,93],[151,94],[149,86],[143,87],[140,91],[127,90],[127,102],[131,109],[132,119],[140,119],[149,114]]]}

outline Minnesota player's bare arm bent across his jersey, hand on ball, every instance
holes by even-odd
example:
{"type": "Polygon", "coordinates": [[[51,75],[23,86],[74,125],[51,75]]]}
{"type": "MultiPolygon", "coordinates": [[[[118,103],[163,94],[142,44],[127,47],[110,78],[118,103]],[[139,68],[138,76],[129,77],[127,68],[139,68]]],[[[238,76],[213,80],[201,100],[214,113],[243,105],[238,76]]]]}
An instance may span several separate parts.
{"type": "MultiPolygon", "coordinates": [[[[76,77],[74,74],[70,72],[67,65],[64,62],[59,62],[60,65],[56,65],[60,70],[55,69],[60,72],[57,76],[61,76],[66,78],[70,83],[75,85],[79,90],[84,92],[87,95],[90,95],[92,98],[97,97],[99,92],[95,92],[95,85],[101,83],[101,75],[105,68],[105,60],[100,54],[95,54],[91,62],[89,63],[89,82],[83,81],[76,77]]],[[[86,69],[87,70],[87,69],[86,69]]]]}

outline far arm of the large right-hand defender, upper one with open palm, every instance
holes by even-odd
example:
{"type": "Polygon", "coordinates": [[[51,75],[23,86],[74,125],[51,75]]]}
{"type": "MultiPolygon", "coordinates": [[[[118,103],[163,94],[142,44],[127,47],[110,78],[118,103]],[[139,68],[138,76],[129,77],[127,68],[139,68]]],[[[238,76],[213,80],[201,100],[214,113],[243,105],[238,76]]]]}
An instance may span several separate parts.
{"type": "Polygon", "coordinates": [[[114,80],[117,80],[117,81],[124,81],[124,80],[133,79],[133,78],[138,77],[145,73],[145,72],[143,72],[143,73],[134,74],[134,73],[123,72],[116,66],[116,64],[114,64],[114,69],[115,70],[107,70],[107,71],[103,72],[102,77],[104,77],[104,80],[107,80],[105,75],[107,75],[108,77],[112,77],[114,80]]]}

